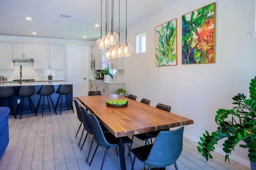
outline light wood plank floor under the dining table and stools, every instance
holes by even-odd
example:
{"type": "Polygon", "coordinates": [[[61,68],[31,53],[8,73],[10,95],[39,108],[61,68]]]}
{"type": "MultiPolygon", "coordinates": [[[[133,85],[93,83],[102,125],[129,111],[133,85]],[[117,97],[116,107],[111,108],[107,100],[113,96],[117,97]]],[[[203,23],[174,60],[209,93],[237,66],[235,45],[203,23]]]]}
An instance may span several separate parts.
{"type": "MultiPolygon", "coordinates": [[[[75,106],[74,106],[75,111],[75,106]]],[[[89,166],[86,163],[92,135],[88,135],[83,150],[78,147],[79,139],[75,138],[80,125],[76,112],[62,111],[62,115],[54,112],[38,114],[24,114],[22,119],[9,118],[10,141],[4,155],[0,160],[0,170],[99,170],[104,154],[104,148],[99,147],[95,158],[89,166]]],[[[186,128],[186,127],[185,127],[186,128]]],[[[79,138],[82,130],[80,130],[79,138]]],[[[84,139],[85,135],[82,138],[84,139]]],[[[142,146],[144,143],[134,139],[132,148],[142,146]]],[[[96,144],[94,143],[92,153],[96,144]]],[[[177,161],[179,170],[249,170],[235,161],[231,164],[224,162],[224,156],[212,153],[214,158],[206,162],[197,152],[197,143],[184,137],[183,151],[177,161]]],[[[128,152],[127,148],[126,151],[128,152]]],[[[126,154],[127,155],[127,154],[126,154]]],[[[90,155],[89,161],[92,157],[90,155]]],[[[133,158],[133,156],[132,156],[133,158]]],[[[126,157],[126,167],[131,168],[130,159],[126,157]]],[[[144,165],[136,161],[135,170],[142,170],[144,165]]],[[[119,158],[114,149],[109,149],[104,170],[119,170],[119,158]]],[[[168,166],[167,170],[174,170],[168,166]]]]}

